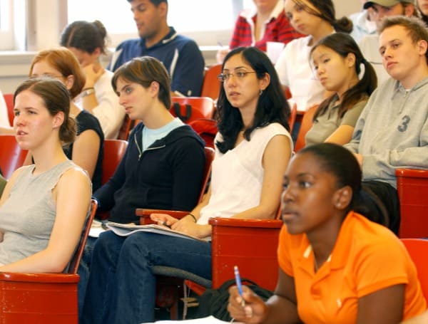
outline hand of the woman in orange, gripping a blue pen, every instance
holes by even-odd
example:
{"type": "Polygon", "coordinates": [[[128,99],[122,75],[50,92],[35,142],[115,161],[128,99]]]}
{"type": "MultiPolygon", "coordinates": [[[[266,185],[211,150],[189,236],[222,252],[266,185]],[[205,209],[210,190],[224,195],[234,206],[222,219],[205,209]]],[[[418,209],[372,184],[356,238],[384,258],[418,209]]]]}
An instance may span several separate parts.
{"type": "Polygon", "coordinates": [[[243,286],[243,297],[239,295],[238,287],[229,288],[228,311],[230,316],[238,322],[257,324],[267,317],[267,305],[250,288],[243,286]],[[245,305],[243,306],[243,300],[245,305]]]}

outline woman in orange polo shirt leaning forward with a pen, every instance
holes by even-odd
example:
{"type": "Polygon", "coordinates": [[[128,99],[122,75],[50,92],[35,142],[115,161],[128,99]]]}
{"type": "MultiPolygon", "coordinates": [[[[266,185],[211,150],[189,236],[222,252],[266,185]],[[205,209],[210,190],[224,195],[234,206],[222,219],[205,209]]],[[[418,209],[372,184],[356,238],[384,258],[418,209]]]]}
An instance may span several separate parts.
{"type": "Polygon", "coordinates": [[[310,145],[284,176],[274,296],[230,288],[230,315],[244,323],[398,323],[427,303],[404,245],[358,214],[361,169],[333,143],[310,145]],[[245,301],[245,305],[242,302],[245,301]]]}

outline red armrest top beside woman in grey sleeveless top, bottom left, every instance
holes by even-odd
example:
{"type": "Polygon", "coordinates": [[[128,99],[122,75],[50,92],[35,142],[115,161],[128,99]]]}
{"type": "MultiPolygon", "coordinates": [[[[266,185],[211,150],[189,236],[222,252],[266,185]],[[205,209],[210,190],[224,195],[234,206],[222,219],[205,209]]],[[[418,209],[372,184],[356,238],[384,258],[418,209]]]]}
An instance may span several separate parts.
{"type": "Polygon", "coordinates": [[[78,280],[78,274],[71,273],[0,273],[0,281],[19,281],[28,283],[78,283],[78,280]]]}

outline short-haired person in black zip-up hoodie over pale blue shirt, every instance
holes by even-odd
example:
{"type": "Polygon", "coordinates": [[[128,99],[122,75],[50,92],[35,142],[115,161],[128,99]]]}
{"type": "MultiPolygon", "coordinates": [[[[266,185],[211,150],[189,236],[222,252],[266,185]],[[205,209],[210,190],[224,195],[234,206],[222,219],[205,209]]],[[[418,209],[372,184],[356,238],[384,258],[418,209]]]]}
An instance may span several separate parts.
{"type": "MultiPolygon", "coordinates": [[[[98,210],[110,211],[110,221],[125,224],[138,223],[138,207],[192,209],[200,194],[204,143],[191,127],[169,113],[167,70],[156,58],[133,58],[116,70],[112,85],[131,120],[142,122],[131,132],[113,177],[94,192],[98,210]]],[[[79,311],[96,240],[88,238],[79,267],[79,311]]]]}

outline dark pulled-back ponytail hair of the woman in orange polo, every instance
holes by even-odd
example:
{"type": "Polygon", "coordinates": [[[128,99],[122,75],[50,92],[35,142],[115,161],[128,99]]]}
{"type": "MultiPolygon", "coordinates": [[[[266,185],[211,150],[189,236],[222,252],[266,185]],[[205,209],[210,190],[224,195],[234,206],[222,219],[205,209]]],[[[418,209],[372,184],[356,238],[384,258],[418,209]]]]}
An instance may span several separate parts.
{"type": "Polygon", "coordinates": [[[297,155],[311,154],[317,158],[320,168],[334,175],[337,188],[349,186],[352,199],[345,210],[355,211],[378,224],[389,225],[389,216],[384,203],[371,190],[362,185],[362,171],[355,156],[342,145],[320,143],[308,145],[297,152],[297,155]]]}

